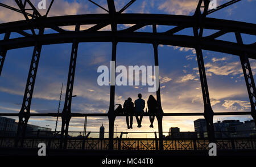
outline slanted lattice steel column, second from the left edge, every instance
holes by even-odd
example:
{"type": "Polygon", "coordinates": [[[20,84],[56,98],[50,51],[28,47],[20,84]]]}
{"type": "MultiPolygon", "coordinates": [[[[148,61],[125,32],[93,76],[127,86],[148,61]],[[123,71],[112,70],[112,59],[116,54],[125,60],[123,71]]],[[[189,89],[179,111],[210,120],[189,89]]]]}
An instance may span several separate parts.
{"type": "MultiPolygon", "coordinates": [[[[44,29],[39,30],[39,35],[44,33],[44,29]]],[[[32,101],[32,95],[35,86],[36,73],[38,71],[39,59],[42,50],[42,45],[36,42],[31,63],[30,71],[28,72],[27,84],[24,92],[22,108],[19,112],[19,124],[16,134],[15,147],[23,147],[24,137],[26,135],[27,122],[30,118],[30,106],[32,101]]]]}

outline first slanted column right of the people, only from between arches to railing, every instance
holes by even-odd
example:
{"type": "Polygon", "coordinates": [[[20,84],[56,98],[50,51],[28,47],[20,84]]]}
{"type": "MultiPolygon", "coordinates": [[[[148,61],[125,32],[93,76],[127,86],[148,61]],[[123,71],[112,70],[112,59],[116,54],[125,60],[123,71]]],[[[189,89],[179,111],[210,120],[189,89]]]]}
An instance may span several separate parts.
{"type": "MultiPolygon", "coordinates": [[[[197,28],[194,27],[193,32],[194,32],[194,36],[197,37],[198,40],[200,40],[197,28]]],[[[208,90],[208,84],[207,84],[207,76],[206,76],[205,67],[204,67],[203,53],[200,45],[197,45],[195,49],[196,49],[197,63],[199,67],[201,88],[203,93],[204,118],[207,123],[208,138],[210,142],[214,142],[213,110],[212,110],[212,106],[210,105],[210,97],[209,97],[209,90],[208,90]]]]}

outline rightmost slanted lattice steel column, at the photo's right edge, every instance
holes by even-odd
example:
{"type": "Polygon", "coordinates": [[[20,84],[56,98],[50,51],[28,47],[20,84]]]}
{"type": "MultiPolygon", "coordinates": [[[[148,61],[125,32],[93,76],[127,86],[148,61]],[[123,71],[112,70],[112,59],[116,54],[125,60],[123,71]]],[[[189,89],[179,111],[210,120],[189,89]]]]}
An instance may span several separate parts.
{"type": "MultiPolygon", "coordinates": [[[[236,38],[238,44],[243,44],[241,33],[236,32],[236,38]]],[[[253,117],[256,126],[256,88],[253,79],[253,72],[251,71],[250,61],[246,53],[240,56],[240,61],[243,69],[243,76],[245,76],[245,83],[251,104],[251,117],[253,117]]]]}

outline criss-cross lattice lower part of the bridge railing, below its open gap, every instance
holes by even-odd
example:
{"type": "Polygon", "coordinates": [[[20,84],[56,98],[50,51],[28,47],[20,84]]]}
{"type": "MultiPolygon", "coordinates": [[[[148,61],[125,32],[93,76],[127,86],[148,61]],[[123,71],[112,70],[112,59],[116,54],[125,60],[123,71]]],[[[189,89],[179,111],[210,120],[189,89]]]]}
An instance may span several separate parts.
{"type": "MultiPolygon", "coordinates": [[[[14,148],[15,138],[2,137],[0,148],[14,148]]],[[[48,149],[59,149],[60,139],[26,138],[23,148],[38,148],[45,143],[48,149]]],[[[108,139],[68,139],[67,149],[108,149],[108,139]]],[[[217,139],[217,149],[256,149],[256,138],[217,139]]],[[[208,150],[207,139],[163,139],[164,150],[208,150]]],[[[115,139],[114,149],[118,150],[158,150],[158,139],[115,139]]]]}

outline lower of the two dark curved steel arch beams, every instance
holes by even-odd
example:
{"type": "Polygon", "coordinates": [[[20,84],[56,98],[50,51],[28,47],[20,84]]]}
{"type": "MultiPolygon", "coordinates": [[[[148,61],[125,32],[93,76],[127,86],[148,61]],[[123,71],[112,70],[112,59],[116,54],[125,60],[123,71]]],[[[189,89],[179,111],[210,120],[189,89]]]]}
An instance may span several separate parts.
{"type": "MultiPolygon", "coordinates": [[[[116,32],[114,37],[118,42],[135,42],[152,44],[153,41],[163,45],[174,45],[186,48],[196,48],[222,52],[234,55],[247,53],[250,58],[256,59],[256,48],[253,45],[237,44],[235,42],[214,40],[208,38],[199,39],[184,35],[165,35],[162,33],[148,32],[116,32]]],[[[20,37],[6,41],[0,41],[0,47],[7,50],[34,46],[38,41],[41,45],[71,43],[74,39],[78,42],[111,42],[113,33],[108,31],[99,32],[72,32],[53,33],[42,36],[20,37]]]]}

